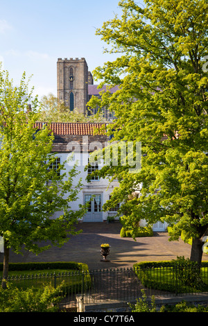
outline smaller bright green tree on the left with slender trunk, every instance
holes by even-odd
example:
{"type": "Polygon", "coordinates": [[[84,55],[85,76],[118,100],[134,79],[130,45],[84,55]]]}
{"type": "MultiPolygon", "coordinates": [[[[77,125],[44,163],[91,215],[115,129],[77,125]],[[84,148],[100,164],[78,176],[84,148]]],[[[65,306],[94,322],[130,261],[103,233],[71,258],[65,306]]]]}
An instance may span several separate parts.
{"type": "MultiPolygon", "coordinates": [[[[3,278],[8,276],[9,250],[35,254],[51,245],[62,246],[67,234],[77,234],[75,223],[85,214],[80,206],[73,212],[80,182],[72,187],[78,174],[76,166],[69,173],[64,164],[51,169],[53,134],[44,126],[35,128],[37,98],[28,92],[25,74],[19,87],[13,87],[8,72],[0,75],[0,236],[4,240],[3,278]],[[28,110],[31,105],[31,110],[28,110]],[[58,173],[62,170],[64,173],[58,173]],[[55,212],[63,212],[53,218],[55,212]],[[50,245],[41,245],[42,241],[50,245]]],[[[5,282],[3,282],[5,286],[5,282]]]]}

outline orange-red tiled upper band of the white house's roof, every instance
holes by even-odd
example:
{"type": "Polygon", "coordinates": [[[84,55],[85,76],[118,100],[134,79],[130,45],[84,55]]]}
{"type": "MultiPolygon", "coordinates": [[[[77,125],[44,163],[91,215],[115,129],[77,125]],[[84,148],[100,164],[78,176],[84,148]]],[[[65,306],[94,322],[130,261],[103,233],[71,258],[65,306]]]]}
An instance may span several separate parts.
{"type": "MultiPolygon", "coordinates": [[[[43,125],[43,122],[36,122],[35,128],[41,129],[43,125]]],[[[50,128],[54,135],[94,135],[94,129],[103,125],[105,123],[52,122],[50,128]]]]}

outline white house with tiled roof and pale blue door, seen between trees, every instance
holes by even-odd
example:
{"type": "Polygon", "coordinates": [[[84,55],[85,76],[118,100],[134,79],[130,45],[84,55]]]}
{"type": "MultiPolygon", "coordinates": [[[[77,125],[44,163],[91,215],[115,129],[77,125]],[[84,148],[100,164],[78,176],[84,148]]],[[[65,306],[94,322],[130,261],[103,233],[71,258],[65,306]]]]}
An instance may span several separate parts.
{"type": "MultiPolygon", "coordinates": [[[[42,128],[43,123],[36,123],[37,128],[42,128]]],[[[94,169],[101,169],[98,164],[92,164],[85,171],[85,166],[88,164],[89,153],[94,152],[98,148],[104,148],[110,140],[105,134],[94,135],[95,128],[101,128],[103,123],[51,123],[50,128],[53,131],[55,139],[53,141],[53,152],[57,157],[55,164],[65,163],[65,171],[71,169],[71,166],[77,162],[77,171],[80,173],[74,178],[74,185],[78,184],[82,178],[83,187],[80,190],[78,200],[71,203],[71,209],[78,209],[79,204],[91,201],[87,214],[80,221],[83,222],[103,222],[107,220],[107,216],[116,215],[118,207],[111,209],[110,212],[103,212],[102,206],[109,198],[114,187],[118,187],[118,182],[114,181],[109,185],[106,179],[92,177],[90,182],[87,182],[87,174],[90,174],[94,169]],[[73,155],[71,154],[73,153],[73,155]],[[69,160],[72,157],[72,160],[69,160]]],[[[62,173],[62,171],[60,171],[62,173]]],[[[53,216],[58,217],[62,212],[56,212],[53,216]]],[[[118,218],[117,218],[118,219],[118,218]]]]}

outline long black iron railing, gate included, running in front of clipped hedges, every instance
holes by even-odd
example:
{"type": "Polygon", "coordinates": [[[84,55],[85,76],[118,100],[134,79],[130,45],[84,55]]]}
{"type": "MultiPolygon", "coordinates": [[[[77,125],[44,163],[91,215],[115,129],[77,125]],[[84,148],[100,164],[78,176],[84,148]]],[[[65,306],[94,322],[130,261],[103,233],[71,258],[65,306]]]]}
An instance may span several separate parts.
{"type": "MultiPolygon", "coordinates": [[[[83,304],[135,302],[144,294],[175,296],[208,293],[208,267],[164,266],[148,268],[110,268],[33,275],[15,275],[8,282],[21,289],[50,284],[60,286],[62,309],[77,311],[83,304]]],[[[0,278],[1,282],[1,278],[0,278]]]]}

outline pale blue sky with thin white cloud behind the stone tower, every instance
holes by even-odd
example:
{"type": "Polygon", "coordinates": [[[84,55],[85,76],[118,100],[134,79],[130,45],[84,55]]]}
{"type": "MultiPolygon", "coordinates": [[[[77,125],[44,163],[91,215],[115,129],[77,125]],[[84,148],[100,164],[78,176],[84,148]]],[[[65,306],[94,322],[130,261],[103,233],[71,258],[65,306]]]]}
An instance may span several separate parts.
{"type": "Polygon", "coordinates": [[[93,71],[103,54],[96,28],[121,12],[119,0],[0,0],[0,61],[18,85],[24,71],[39,97],[55,96],[58,58],[85,58],[93,71]]]}

